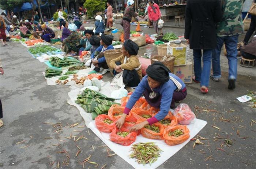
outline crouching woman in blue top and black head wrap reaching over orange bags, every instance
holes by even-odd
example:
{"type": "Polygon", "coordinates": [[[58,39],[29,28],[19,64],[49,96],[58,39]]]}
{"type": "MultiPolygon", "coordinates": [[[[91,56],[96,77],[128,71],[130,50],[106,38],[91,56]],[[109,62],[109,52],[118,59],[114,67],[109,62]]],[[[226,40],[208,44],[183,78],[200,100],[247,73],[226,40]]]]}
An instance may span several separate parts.
{"type": "Polygon", "coordinates": [[[131,131],[140,130],[145,125],[161,121],[168,114],[170,107],[174,109],[175,102],[183,100],[187,95],[185,83],[178,76],[170,73],[170,70],[161,62],[154,62],[148,66],[146,73],[147,75],[143,77],[129,98],[122,117],[116,122],[119,129],[142,94],[149,105],[159,108],[160,111],[154,117],[134,125],[131,131]]]}

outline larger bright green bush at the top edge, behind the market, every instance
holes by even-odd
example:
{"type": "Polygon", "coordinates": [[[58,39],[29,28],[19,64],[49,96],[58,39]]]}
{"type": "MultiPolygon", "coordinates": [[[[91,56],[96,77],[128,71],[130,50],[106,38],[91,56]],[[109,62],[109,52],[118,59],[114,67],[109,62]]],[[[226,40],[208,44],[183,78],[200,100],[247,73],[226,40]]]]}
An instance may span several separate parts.
{"type": "Polygon", "coordinates": [[[106,0],[86,0],[83,6],[87,9],[87,16],[93,17],[97,12],[105,10],[106,0]]]}

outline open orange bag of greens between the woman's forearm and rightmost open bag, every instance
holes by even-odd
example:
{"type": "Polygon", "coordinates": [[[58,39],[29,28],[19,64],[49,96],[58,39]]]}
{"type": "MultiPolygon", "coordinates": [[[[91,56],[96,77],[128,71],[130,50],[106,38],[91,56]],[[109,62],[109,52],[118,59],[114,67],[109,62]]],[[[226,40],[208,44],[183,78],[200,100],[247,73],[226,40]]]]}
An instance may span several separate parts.
{"type": "MultiPolygon", "coordinates": [[[[138,120],[137,124],[143,121],[145,120],[138,120]]],[[[154,123],[153,125],[144,126],[142,129],[140,129],[140,133],[143,135],[143,137],[146,137],[146,138],[162,140],[163,130],[165,130],[163,125],[157,122],[157,123],[154,123]]]]}

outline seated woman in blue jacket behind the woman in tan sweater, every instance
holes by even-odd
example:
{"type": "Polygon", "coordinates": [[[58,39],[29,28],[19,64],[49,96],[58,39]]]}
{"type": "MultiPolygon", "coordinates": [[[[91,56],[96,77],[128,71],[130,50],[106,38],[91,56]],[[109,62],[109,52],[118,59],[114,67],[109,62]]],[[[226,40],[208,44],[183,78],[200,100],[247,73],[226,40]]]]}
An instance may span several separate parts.
{"type": "Polygon", "coordinates": [[[94,70],[99,72],[100,68],[108,69],[108,64],[106,63],[105,56],[103,54],[106,50],[114,49],[111,45],[113,41],[112,35],[101,35],[101,46],[99,46],[96,51],[91,54],[91,63],[95,66],[94,70]]]}

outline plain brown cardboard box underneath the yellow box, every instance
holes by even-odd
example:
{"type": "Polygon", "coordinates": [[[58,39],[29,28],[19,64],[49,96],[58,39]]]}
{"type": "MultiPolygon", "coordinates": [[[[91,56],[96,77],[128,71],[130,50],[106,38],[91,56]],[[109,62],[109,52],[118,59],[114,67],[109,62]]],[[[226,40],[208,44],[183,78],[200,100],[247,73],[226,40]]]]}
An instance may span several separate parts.
{"type": "Polygon", "coordinates": [[[184,83],[192,83],[192,62],[187,62],[184,66],[174,66],[174,74],[181,78],[184,83]]]}

